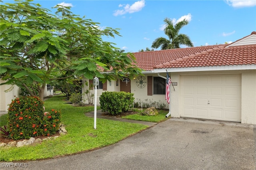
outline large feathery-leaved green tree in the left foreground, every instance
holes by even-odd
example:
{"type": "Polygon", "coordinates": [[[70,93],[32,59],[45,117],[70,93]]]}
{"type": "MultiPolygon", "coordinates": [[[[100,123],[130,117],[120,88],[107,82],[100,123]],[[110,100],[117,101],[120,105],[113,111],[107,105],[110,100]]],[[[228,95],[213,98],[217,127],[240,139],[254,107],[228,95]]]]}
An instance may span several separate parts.
{"type": "Polygon", "coordinates": [[[39,93],[56,79],[83,75],[106,79],[141,74],[132,54],[120,53],[102,36],[120,36],[118,29],[101,30],[99,23],[56,6],[55,14],[32,0],[0,5],[0,76],[2,84],[39,93]]]}

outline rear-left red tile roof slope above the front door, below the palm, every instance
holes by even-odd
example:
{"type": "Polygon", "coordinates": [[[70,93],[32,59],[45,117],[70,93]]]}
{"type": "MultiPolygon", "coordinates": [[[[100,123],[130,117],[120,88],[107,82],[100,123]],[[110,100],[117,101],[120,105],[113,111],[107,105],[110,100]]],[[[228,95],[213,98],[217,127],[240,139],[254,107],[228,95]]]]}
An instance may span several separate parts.
{"type": "Polygon", "coordinates": [[[182,61],[192,56],[214,51],[214,49],[224,48],[224,46],[226,46],[226,44],[166,49],[160,51],[144,51],[133,54],[136,57],[137,67],[150,71],[154,68],[161,68],[161,66],[162,68],[167,68],[170,65],[170,62],[182,61]],[[156,67],[156,65],[158,67],[156,67]]]}

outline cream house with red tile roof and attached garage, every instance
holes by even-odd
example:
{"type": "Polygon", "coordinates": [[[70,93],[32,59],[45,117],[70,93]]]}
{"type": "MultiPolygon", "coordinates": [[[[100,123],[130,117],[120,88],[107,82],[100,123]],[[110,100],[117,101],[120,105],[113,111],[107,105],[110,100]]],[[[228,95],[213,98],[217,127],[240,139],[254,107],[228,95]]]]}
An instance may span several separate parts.
{"type": "Polygon", "coordinates": [[[172,117],[256,125],[256,32],[230,44],[144,51],[134,56],[144,76],[101,84],[98,96],[105,90],[126,91],[134,93],[135,102],[161,101],[168,107],[166,79],[162,78],[167,71],[172,81],[172,117]]]}

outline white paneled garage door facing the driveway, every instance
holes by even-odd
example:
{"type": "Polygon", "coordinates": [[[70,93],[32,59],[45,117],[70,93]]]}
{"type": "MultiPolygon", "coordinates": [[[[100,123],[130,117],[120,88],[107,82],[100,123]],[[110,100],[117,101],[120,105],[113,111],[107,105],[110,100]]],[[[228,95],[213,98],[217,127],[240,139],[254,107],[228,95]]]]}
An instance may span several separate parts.
{"type": "Polygon", "coordinates": [[[182,75],[181,117],[241,122],[241,75],[182,75]]]}

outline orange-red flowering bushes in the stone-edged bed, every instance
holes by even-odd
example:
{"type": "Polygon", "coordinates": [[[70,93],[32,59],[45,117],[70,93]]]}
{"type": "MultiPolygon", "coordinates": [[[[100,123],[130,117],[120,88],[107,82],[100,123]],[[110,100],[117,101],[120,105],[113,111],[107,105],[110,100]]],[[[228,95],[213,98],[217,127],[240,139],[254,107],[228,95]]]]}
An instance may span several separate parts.
{"type": "Polygon", "coordinates": [[[12,100],[8,109],[9,137],[18,140],[56,133],[60,123],[60,112],[54,110],[52,112],[58,114],[54,115],[51,112],[46,118],[43,105],[39,97],[25,96],[12,100]],[[50,131],[45,130],[44,125],[48,125],[50,131]],[[50,128],[50,126],[55,127],[50,128]]]}

